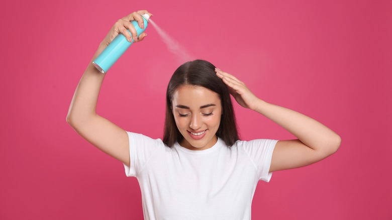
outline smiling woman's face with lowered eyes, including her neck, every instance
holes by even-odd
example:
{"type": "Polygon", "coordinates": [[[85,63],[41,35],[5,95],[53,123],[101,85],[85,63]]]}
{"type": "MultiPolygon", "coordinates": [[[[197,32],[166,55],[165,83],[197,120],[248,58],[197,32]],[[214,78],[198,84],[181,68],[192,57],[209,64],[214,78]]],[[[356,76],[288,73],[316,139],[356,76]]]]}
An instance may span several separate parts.
{"type": "Polygon", "coordinates": [[[190,150],[206,150],[217,143],[222,104],[219,95],[202,86],[182,85],[173,94],[175,124],[190,150]]]}

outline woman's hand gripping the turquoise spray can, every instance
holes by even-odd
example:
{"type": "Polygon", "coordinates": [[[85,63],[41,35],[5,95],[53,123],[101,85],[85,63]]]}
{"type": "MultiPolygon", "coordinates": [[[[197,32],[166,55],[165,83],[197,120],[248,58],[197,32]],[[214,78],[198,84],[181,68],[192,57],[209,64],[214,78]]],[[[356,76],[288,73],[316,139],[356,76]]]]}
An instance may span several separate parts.
{"type": "Polygon", "coordinates": [[[147,12],[146,10],[141,10],[137,12],[133,12],[129,14],[128,16],[125,16],[122,19],[119,19],[112,27],[112,29],[109,31],[108,35],[105,37],[105,39],[102,41],[102,45],[107,47],[110,42],[115,39],[117,35],[120,33],[123,34],[129,42],[139,42],[144,39],[144,37],[147,36],[146,33],[142,33],[139,38],[137,37],[137,32],[135,27],[131,24],[130,21],[137,21],[139,24],[140,28],[144,28],[144,20],[141,15],[148,14],[150,17],[152,16],[151,13],[147,12]],[[127,29],[131,32],[132,36],[129,34],[127,29]]]}

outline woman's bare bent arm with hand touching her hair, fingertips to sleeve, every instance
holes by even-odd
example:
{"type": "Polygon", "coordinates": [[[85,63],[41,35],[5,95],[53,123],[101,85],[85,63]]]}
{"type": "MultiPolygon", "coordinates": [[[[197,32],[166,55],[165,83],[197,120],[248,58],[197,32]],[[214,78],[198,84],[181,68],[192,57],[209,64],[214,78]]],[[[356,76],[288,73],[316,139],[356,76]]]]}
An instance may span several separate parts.
{"type": "Polygon", "coordinates": [[[338,150],[341,139],[331,129],[301,113],[263,101],[236,77],[218,68],[216,72],[241,106],[260,113],[298,138],[276,143],[270,172],[307,166],[338,150]]]}

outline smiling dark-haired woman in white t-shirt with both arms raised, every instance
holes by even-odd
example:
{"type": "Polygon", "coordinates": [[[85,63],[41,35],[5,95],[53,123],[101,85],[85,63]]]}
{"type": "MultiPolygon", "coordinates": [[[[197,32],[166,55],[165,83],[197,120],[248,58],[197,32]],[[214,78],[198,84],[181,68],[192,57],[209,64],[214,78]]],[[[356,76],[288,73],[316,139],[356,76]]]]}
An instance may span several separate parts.
{"type": "MultiPolygon", "coordinates": [[[[93,59],[119,34],[136,42],[129,21],[120,19],[93,59]],[[127,29],[132,33],[128,33],[127,29]]],[[[150,13],[148,13],[150,14],[150,13]]],[[[152,16],[150,14],[150,16],[152,16]]],[[[126,132],[95,112],[105,74],[90,62],[73,96],[67,122],[91,144],[124,163],[137,177],[146,219],[250,219],[259,180],[273,171],[306,166],[333,154],[340,137],[321,123],[256,97],[246,85],[204,60],[186,62],[166,91],[163,140],[126,132]],[[277,123],[297,140],[240,141],[230,94],[277,123]]]]}

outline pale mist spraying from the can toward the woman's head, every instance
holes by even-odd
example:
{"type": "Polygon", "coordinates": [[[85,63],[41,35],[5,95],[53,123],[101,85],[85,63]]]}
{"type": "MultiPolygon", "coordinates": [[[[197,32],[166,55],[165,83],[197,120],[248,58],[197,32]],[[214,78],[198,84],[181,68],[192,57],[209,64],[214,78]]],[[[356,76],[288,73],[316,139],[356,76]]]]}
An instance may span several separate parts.
{"type": "Polygon", "coordinates": [[[152,26],[154,26],[155,30],[158,32],[159,36],[162,38],[162,41],[166,44],[167,49],[176,55],[180,64],[194,60],[192,56],[183,48],[177,41],[171,38],[166,32],[164,32],[161,28],[158,27],[155,22],[151,19],[149,20],[152,26]]]}

